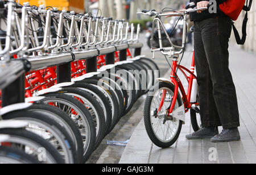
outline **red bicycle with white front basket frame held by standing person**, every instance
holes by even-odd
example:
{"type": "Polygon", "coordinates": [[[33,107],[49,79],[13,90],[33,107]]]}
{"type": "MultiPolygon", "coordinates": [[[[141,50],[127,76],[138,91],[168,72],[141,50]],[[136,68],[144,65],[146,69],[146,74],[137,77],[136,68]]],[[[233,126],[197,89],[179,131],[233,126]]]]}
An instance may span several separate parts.
{"type": "MultiPolygon", "coordinates": [[[[205,9],[205,8],[203,8],[205,9]]],[[[153,21],[151,40],[154,37],[155,24],[158,28],[160,48],[152,47],[151,52],[161,52],[167,59],[172,60],[171,76],[168,78],[158,78],[158,83],[150,90],[144,105],[144,124],[151,141],[161,148],[170,147],[179,138],[181,127],[185,122],[185,113],[190,111],[193,130],[200,129],[200,107],[197,90],[197,77],[195,73],[195,57],[192,57],[191,70],[178,64],[179,56],[184,54],[187,38],[187,15],[189,12],[200,9],[188,9],[183,11],[172,10],[170,12],[156,12],[154,10],[143,10],[138,14],[156,16],[153,21]],[[162,16],[180,16],[183,18],[183,44],[174,45],[165,30],[161,21],[162,16]],[[163,47],[161,32],[164,31],[171,47],[163,47]],[[188,82],[186,93],[183,82],[177,75],[178,70],[184,75],[188,82]]],[[[168,61],[168,60],[167,60],[168,61]]],[[[169,63],[169,62],[168,62],[169,63]]]]}

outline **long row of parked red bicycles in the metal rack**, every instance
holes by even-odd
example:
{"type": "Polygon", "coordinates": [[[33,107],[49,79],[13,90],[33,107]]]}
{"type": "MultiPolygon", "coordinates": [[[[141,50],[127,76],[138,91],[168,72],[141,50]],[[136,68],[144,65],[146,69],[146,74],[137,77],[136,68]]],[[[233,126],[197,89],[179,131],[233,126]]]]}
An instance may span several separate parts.
{"type": "Polygon", "coordinates": [[[159,77],[125,20],[13,0],[0,18],[0,163],[85,163],[159,77]]]}

